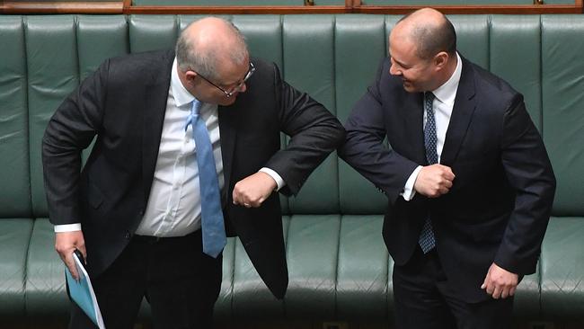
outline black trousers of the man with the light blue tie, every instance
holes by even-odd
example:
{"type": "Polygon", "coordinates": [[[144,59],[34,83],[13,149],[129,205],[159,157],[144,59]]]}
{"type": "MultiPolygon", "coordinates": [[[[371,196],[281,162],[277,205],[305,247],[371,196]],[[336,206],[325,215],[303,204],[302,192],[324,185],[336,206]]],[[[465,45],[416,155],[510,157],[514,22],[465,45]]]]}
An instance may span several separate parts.
{"type": "MultiPolygon", "coordinates": [[[[89,256],[91,257],[91,255],[89,256]]],[[[133,236],[93,289],[108,329],[132,329],[142,299],[154,328],[212,328],[222,256],[202,252],[200,230],[188,236],[133,236]]],[[[69,328],[96,328],[74,303],[69,328]]]]}

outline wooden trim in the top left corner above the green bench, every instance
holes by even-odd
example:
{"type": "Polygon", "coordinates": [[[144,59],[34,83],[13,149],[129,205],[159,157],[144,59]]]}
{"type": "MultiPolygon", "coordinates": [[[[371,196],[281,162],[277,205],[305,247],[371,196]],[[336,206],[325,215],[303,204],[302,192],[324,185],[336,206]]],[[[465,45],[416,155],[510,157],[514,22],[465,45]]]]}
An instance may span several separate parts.
{"type": "Polygon", "coordinates": [[[123,13],[121,2],[4,1],[2,13],[123,13]]]}

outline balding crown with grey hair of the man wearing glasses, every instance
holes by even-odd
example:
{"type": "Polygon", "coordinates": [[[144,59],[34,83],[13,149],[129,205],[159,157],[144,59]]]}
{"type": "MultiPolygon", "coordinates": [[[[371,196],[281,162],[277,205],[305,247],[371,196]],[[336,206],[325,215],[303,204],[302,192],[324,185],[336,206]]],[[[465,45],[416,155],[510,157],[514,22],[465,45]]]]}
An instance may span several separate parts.
{"type": "Polygon", "coordinates": [[[242,33],[231,22],[208,17],[190,23],[181,32],[176,58],[181,71],[191,69],[217,79],[218,67],[226,63],[242,65],[249,54],[242,33]]]}

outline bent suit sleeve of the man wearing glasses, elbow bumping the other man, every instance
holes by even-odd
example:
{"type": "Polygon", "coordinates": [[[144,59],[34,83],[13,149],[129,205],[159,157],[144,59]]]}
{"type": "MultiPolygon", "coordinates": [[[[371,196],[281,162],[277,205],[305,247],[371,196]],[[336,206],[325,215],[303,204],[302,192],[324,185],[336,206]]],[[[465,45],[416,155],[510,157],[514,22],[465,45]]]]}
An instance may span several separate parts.
{"type": "Polygon", "coordinates": [[[286,182],[280,191],[296,195],[310,173],[341,144],[345,130],[321,103],[283,81],[279,68],[273,68],[280,130],[290,140],[265,166],[286,182]]]}

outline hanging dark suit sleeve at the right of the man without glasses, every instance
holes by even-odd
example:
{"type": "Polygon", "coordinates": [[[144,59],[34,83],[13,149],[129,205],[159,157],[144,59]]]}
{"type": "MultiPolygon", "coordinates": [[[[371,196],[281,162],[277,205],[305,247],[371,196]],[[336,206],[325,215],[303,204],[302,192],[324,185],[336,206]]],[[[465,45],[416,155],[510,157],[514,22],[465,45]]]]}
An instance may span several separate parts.
{"type": "Polygon", "coordinates": [[[552,211],[555,177],[544,142],[517,95],[505,113],[501,160],[516,191],[515,209],[495,263],[518,274],[535,271],[552,211]]]}

